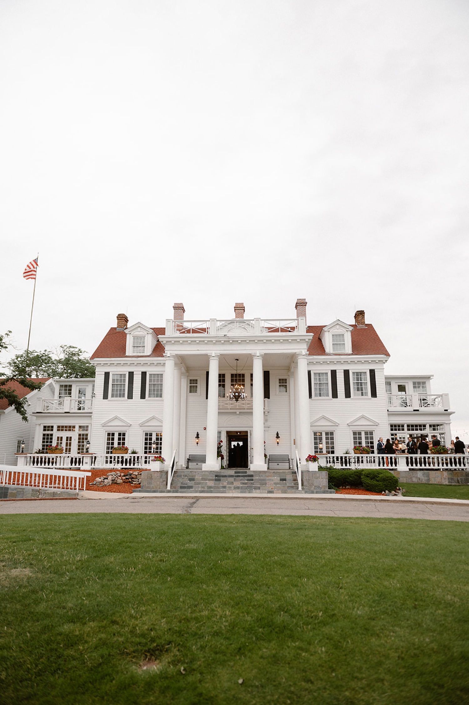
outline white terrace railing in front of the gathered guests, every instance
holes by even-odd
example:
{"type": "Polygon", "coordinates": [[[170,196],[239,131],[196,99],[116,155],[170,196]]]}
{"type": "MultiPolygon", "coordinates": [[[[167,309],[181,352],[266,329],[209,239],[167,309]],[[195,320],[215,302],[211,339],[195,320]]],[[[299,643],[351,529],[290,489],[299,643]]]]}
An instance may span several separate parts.
{"type": "Polygon", "coordinates": [[[319,455],[319,465],[354,470],[358,467],[390,467],[395,470],[469,470],[469,455],[319,455]]]}

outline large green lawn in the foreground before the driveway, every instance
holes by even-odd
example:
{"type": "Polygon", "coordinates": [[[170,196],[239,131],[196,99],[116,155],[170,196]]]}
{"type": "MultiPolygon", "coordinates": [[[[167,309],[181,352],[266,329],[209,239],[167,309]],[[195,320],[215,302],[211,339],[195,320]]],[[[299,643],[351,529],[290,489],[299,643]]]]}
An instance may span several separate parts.
{"type": "Polygon", "coordinates": [[[469,702],[469,522],[13,515],[0,529],[2,705],[469,702]]]}

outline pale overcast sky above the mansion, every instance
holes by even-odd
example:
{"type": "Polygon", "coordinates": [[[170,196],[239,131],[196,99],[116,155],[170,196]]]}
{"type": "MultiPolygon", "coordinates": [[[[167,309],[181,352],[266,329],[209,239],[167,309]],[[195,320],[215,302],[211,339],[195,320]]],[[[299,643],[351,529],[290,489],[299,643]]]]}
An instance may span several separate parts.
{"type": "Polygon", "coordinates": [[[468,30],[466,0],[1,0],[1,331],[37,252],[39,350],[175,301],[363,308],[469,442],[468,30]]]}

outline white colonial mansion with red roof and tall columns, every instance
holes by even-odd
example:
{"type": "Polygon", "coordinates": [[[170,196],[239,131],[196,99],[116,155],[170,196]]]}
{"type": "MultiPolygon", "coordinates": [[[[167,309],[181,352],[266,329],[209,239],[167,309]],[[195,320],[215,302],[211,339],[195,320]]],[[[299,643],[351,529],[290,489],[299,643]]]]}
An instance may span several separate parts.
{"type": "Polygon", "coordinates": [[[310,453],[374,452],[380,436],[434,433],[449,445],[449,396],[432,393],[430,375],[385,376],[389,353],[363,311],[354,324],[308,326],[305,299],[288,320],[245,319],[242,303],[227,320],[173,309],[164,328],[128,326],[119,314],[92,355],[96,379],[49,380],[27,395],[32,424],[0,411],[21,427],[8,433],[6,462],[26,429],[25,453],[57,443],[80,465],[89,448],[96,467],[112,462],[114,446],[146,467],[154,454],[175,467],[200,454],[215,470],[221,441],[225,467],[263,470],[265,455],[298,453],[305,466],[310,453]]]}

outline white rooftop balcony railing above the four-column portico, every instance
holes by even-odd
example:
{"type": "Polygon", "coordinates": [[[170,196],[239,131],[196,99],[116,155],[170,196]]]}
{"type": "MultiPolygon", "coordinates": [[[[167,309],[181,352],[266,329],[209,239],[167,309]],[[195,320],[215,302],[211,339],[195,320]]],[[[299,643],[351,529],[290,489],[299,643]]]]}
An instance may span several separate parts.
{"type": "Polygon", "coordinates": [[[197,321],[173,321],[166,320],[167,336],[177,336],[180,334],[192,336],[253,336],[253,335],[273,335],[292,333],[306,333],[306,319],[261,319],[261,318],[236,318],[236,319],[216,319],[197,321]]]}

